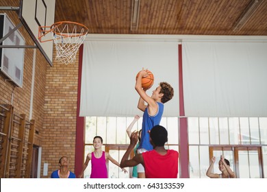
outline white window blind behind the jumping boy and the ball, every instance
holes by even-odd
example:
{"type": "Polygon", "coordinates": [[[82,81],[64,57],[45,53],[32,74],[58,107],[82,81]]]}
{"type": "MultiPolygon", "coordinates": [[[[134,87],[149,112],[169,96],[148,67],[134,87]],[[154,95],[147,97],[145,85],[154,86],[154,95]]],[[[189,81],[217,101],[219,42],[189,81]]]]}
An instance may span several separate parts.
{"type": "Polygon", "coordinates": [[[153,39],[86,40],[82,61],[81,105],[79,116],[142,115],[137,104],[136,74],[149,69],[155,82],[168,82],[175,97],[165,104],[164,116],[179,115],[178,43],[153,39]]]}

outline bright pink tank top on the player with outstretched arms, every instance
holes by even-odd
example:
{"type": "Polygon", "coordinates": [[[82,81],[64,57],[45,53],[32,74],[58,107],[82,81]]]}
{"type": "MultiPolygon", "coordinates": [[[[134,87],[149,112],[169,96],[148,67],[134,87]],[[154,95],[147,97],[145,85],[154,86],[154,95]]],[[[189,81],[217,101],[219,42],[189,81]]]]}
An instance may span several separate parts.
{"type": "Polygon", "coordinates": [[[107,165],[105,165],[105,152],[102,152],[101,158],[96,158],[92,152],[92,171],[90,178],[107,178],[107,165]]]}

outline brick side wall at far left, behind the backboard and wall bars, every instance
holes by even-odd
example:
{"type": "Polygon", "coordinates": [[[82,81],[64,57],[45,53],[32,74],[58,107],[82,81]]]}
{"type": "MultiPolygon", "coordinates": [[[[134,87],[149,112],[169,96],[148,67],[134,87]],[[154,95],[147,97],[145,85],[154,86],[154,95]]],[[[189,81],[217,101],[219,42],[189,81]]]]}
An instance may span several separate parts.
{"type": "MultiPolygon", "coordinates": [[[[1,0],[0,6],[13,6],[19,7],[19,0],[8,1],[1,0]]],[[[20,23],[18,19],[18,13],[15,11],[0,11],[1,13],[6,13],[14,23],[18,25],[20,23]]],[[[27,30],[24,27],[20,27],[19,31],[25,38],[25,45],[34,45],[34,41],[29,36],[27,30]]],[[[25,114],[26,119],[29,120],[29,115],[31,113],[30,101],[31,101],[31,85],[33,77],[33,56],[34,49],[25,49],[24,53],[24,67],[23,67],[23,87],[18,87],[10,80],[8,77],[0,73],[0,103],[1,104],[12,104],[14,106],[14,112],[18,114],[25,114]],[[13,98],[13,99],[12,99],[13,98]]],[[[45,77],[47,73],[48,64],[47,60],[44,59],[42,53],[36,49],[36,69],[34,76],[34,98],[33,98],[33,108],[32,117],[35,119],[35,128],[37,132],[42,132],[43,123],[43,112],[44,112],[44,91],[45,91],[45,77]]],[[[34,144],[42,145],[42,136],[40,134],[34,135],[34,144]]]]}

